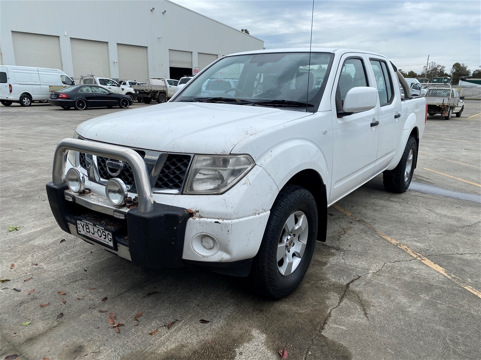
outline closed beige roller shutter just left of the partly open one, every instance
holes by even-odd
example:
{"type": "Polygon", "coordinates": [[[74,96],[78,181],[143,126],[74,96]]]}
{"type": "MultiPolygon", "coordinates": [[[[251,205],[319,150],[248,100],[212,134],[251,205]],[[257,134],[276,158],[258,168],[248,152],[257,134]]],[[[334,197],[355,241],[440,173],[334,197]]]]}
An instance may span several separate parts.
{"type": "Polygon", "coordinates": [[[123,80],[148,79],[147,47],[117,44],[119,76],[123,80]]]}

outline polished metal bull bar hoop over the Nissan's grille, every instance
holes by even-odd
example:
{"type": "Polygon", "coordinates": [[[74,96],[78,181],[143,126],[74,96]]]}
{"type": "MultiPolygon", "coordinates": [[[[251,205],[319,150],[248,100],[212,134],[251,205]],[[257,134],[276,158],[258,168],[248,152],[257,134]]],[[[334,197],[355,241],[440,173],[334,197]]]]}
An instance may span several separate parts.
{"type": "Polygon", "coordinates": [[[63,139],[55,149],[52,170],[52,182],[59,185],[65,182],[65,164],[67,164],[68,151],[103,156],[127,162],[134,173],[137,197],[139,198],[139,211],[149,212],[154,209],[152,188],[148,177],[147,166],[144,159],[132,149],[101,142],[78,139],[63,139]]]}

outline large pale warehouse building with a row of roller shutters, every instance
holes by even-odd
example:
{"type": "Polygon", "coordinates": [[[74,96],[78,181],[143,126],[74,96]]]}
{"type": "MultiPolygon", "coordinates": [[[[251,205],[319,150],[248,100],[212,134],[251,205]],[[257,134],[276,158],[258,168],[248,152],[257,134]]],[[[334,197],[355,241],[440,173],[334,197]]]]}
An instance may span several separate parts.
{"type": "Polygon", "coordinates": [[[264,41],[167,0],[0,3],[0,64],[180,79],[264,41]]]}

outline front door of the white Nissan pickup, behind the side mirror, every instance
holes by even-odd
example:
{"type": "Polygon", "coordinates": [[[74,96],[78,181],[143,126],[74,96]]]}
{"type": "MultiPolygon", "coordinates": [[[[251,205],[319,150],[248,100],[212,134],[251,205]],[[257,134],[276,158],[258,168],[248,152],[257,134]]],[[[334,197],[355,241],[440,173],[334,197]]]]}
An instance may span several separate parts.
{"type": "Polygon", "coordinates": [[[331,99],[333,173],[329,202],[349,193],[374,173],[379,140],[379,129],[375,125],[378,107],[351,115],[342,113],[347,92],[353,87],[369,86],[367,66],[367,59],[362,54],[346,54],[336,73],[331,99]]]}

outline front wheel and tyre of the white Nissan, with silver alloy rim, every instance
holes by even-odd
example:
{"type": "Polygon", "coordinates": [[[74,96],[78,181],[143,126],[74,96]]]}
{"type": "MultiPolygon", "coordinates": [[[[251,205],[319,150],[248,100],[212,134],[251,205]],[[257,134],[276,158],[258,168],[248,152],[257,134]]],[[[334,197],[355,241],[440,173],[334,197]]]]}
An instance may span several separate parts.
{"type": "Polygon", "coordinates": [[[272,206],[249,287],[274,299],[292,293],[311,263],[317,238],[317,207],[303,187],[286,185],[272,206]]]}

